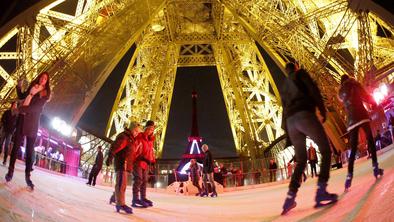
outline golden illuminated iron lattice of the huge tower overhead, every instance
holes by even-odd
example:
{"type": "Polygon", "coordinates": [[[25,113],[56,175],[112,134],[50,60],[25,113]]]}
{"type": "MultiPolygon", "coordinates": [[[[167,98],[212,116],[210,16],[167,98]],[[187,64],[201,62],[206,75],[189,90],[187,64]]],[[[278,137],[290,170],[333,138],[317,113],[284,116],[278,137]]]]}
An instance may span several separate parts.
{"type": "Polygon", "coordinates": [[[255,158],[284,133],[278,74],[266,61],[282,72],[297,61],[318,82],[326,131],[344,149],[339,78],[393,82],[393,21],[371,0],[43,0],[0,29],[1,110],[18,79],[47,70],[54,96],[46,114],[76,125],[132,50],[114,89],[109,138],[131,119],[152,119],[160,157],[177,67],[216,66],[236,150],[255,158]]]}

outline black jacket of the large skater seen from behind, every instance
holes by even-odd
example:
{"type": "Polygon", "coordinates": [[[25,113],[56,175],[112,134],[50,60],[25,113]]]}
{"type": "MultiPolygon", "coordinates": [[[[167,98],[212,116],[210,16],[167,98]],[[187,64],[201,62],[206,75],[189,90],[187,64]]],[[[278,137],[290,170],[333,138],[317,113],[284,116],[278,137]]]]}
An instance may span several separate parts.
{"type": "MultiPolygon", "coordinates": [[[[303,69],[290,73],[286,78],[282,87],[281,99],[283,106],[282,124],[285,124],[286,119],[297,112],[309,111],[315,113],[316,107],[323,117],[326,115],[320,90],[303,69]]],[[[282,128],[285,129],[285,125],[282,128]]]]}

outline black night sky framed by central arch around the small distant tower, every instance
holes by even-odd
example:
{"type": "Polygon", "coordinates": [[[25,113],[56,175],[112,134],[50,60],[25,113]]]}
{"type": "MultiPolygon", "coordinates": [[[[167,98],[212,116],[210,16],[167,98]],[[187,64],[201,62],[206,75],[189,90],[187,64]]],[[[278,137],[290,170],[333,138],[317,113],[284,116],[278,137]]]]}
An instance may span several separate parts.
{"type": "Polygon", "coordinates": [[[200,136],[215,157],[234,157],[235,145],[216,67],[181,67],[177,70],[163,158],[179,158],[191,131],[193,88],[197,91],[200,136]]]}

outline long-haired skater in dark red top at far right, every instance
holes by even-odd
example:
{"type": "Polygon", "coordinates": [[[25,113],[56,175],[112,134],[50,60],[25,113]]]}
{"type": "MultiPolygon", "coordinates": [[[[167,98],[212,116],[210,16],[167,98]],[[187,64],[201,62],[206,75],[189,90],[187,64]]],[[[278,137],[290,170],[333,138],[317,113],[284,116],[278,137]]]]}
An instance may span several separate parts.
{"type": "Polygon", "coordinates": [[[348,174],[345,180],[345,190],[348,190],[352,184],[354,159],[356,157],[358,145],[358,132],[363,129],[368,140],[368,151],[372,156],[373,174],[376,178],[383,175],[383,169],[379,168],[378,159],[376,156],[376,146],[373,139],[370,119],[368,111],[365,109],[363,102],[372,106],[376,106],[373,100],[359,82],[350,78],[348,75],[341,76],[341,87],[339,89],[339,99],[345,106],[345,111],[348,116],[348,128],[350,139],[350,157],[348,164],[348,174]]]}

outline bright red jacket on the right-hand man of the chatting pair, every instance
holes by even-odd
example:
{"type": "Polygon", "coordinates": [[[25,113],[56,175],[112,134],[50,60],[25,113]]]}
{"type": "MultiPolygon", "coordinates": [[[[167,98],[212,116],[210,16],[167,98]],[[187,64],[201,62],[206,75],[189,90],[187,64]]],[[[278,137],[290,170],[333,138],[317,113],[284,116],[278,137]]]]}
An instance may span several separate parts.
{"type": "Polygon", "coordinates": [[[136,166],[141,167],[142,169],[148,169],[149,164],[153,164],[156,162],[155,154],[154,154],[154,142],[155,137],[147,136],[144,133],[140,133],[137,136],[137,140],[142,143],[141,149],[138,149],[135,154],[136,158],[136,166]]]}

